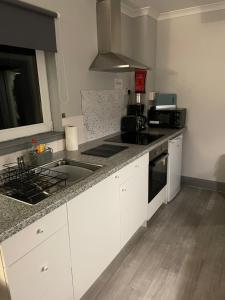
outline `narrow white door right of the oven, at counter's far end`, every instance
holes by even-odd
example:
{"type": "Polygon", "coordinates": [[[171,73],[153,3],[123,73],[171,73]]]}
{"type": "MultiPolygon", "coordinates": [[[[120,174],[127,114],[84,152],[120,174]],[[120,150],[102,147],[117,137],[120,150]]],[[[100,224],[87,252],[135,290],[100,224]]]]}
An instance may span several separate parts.
{"type": "Polygon", "coordinates": [[[169,141],[168,201],[180,191],[183,136],[169,141]]]}

